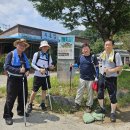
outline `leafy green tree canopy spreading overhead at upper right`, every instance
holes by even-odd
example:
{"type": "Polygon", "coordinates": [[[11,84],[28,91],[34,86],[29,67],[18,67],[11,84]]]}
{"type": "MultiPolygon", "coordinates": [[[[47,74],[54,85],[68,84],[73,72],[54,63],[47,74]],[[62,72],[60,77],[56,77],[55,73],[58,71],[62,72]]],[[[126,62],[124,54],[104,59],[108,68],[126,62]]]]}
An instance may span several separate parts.
{"type": "Polygon", "coordinates": [[[29,0],[43,16],[62,21],[74,29],[84,25],[100,33],[103,40],[130,29],[130,0],[29,0]]]}

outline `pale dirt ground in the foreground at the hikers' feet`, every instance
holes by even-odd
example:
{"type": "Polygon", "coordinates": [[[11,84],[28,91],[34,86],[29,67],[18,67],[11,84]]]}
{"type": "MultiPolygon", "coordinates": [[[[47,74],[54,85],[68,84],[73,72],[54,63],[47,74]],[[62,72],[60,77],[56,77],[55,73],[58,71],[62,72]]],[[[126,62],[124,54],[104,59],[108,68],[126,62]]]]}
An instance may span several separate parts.
{"type": "Polygon", "coordinates": [[[117,123],[110,123],[107,118],[102,122],[94,122],[91,124],[84,124],[80,118],[81,112],[76,114],[57,114],[53,112],[34,111],[30,117],[27,118],[27,126],[25,127],[23,118],[17,116],[15,103],[14,124],[7,126],[5,124],[3,115],[3,107],[5,98],[0,98],[0,130],[130,130],[130,112],[121,112],[121,119],[117,123]],[[129,115],[128,115],[129,114],[129,115]],[[129,116],[129,118],[126,118],[129,116]]]}

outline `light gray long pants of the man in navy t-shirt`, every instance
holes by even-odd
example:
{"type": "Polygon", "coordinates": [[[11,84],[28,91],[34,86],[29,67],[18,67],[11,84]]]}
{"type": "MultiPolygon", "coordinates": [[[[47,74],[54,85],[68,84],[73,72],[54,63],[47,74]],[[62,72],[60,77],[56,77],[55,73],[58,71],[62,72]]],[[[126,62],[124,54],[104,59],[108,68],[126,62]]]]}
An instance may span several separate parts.
{"type": "Polygon", "coordinates": [[[81,105],[81,101],[83,98],[83,94],[84,94],[84,89],[85,87],[87,88],[87,92],[88,92],[88,100],[86,102],[86,106],[92,106],[93,105],[93,89],[92,89],[92,83],[93,81],[87,81],[87,80],[83,80],[80,78],[79,80],[79,87],[77,90],[77,95],[75,98],[75,103],[81,105]]]}

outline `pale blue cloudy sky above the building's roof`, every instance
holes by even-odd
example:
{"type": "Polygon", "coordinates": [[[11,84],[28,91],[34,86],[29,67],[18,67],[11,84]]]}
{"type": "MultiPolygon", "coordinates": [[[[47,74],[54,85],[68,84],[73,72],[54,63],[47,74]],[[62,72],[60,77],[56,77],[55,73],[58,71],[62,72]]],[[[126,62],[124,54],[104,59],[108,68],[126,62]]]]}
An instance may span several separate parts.
{"type": "MultiPolygon", "coordinates": [[[[0,27],[2,30],[22,24],[35,28],[67,33],[70,30],[56,20],[40,16],[33,4],[28,0],[0,0],[0,27]]],[[[78,29],[84,30],[83,26],[78,29]]]]}

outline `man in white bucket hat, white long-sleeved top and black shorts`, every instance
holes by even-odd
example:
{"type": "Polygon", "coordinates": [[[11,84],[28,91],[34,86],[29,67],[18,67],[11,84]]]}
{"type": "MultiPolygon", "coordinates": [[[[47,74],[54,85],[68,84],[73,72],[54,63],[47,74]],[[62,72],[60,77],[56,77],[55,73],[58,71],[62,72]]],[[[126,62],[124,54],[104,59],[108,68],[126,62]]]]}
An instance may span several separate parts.
{"type": "Polygon", "coordinates": [[[35,69],[35,73],[34,73],[33,89],[30,96],[27,113],[30,113],[32,111],[32,103],[40,87],[42,88],[42,97],[41,97],[42,100],[40,107],[42,110],[46,110],[45,105],[46,90],[47,90],[46,78],[48,82],[48,88],[50,89],[51,84],[50,84],[49,70],[54,68],[51,55],[49,55],[48,53],[49,48],[50,45],[48,44],[47,41],[41,41],[39,46],[40,51],[34,53],[33,55],[32,67],[35,69]]]}

